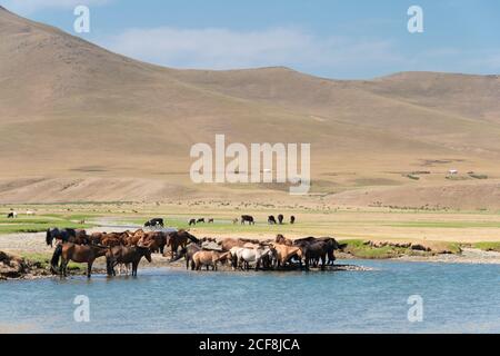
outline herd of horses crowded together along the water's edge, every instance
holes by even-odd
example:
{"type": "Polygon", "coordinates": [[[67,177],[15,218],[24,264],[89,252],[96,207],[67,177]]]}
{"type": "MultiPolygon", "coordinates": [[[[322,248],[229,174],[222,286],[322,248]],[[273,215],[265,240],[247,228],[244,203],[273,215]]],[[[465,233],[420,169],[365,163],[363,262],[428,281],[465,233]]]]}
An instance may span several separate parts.
{"type": "Polygon", "coordinates": [[[116,276],[116,267],[137,276],[139,263],[146,258],[151,263],[152,254],[170,255],[171,261],[181,258],[186,268],[200,270],[218,269],[219,264],[230,265],[233,270],[280,270],[310,267],[324,269],[333,265],[334,250],[342,249],[332,237],[307,237],[291,240],[278,235],[271,240],[252,240],[243,238],[197,238],[187,230],[172,233],[137,231],[93,233],[88,235],[82,229],[47,230],[46,243],[56,249],[51,259],[51,270],[61,277],[67,276],[69,261],[87,264],[90,278],[92,265],[98,258],[106,258],[107,273],[116,276]],[[168,249],[170,248],[170,251],[168,249]]]}

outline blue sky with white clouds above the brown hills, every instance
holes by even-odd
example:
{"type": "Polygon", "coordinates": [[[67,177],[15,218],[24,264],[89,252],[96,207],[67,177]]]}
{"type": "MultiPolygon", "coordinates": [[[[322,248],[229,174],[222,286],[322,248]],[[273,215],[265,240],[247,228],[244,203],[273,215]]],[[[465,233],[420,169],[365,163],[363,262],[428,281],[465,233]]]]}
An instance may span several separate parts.
{"type": "Polygon", "coordinates": [[[336,79],[500,73],[498,0],[0,0],[111,51],[173,68],[284,66],[336,79]],[[73,9],[90,9],[76,33],[73,9]],[[423,11],[410,33],[408,9],[423,11]]]}

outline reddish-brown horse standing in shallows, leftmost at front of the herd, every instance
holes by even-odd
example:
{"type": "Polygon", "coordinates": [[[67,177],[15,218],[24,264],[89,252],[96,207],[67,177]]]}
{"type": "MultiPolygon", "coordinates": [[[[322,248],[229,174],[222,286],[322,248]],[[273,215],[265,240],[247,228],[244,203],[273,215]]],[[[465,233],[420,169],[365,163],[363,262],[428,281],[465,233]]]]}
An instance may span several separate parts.
{"type": "Polygon", "coordinates": [[[90,278],[92,274],[93,261],[106,255],[109,250],[106,246],[94,246],[94,245],[76,245],[72,243],[67,243],[58,245],[53,251],[51,260],[52,273],[57,274],[59,258],[61,258],[61,265],[59,267],[59,274],[67,276],[67,268],[70,260],[77,264],[87,264],[87,277],[90,278]]]}

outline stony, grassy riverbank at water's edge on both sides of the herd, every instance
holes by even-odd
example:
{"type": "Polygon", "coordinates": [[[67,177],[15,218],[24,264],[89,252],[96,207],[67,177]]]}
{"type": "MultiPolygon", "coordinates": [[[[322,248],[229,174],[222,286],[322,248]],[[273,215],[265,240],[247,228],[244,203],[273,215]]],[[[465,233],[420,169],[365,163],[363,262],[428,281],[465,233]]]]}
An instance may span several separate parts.
{"type": "MultiPolygon", "coordinates": [[[[101,228],[89,229],[100,230],[101,228]]],[[[123,227],[107,226],[108,231],[120,231],[123,227]]],[[[269,237],[271,238],[271,237],[269,237]]],[[[340,239],[344,245],[341,251],[337,251],[337,263],[332,270],[362,270],[362,267],[344,265],[350,259],[393,259],[403,261],[431,261],[448,264],[498,264],[500,265],[499,243],[459,244],[446,241],[407,241],[407,240],[363,240],[340,239]],[[344,265],[347,267],[342,267],[344,265]]],[[[24,233],[0,235],[0,279],[33,279],[52,276],[50,273],[50,257],[53,249],[46,245],[44,233],[24,233]]],[[[143,267],[186,268],[183,260],[170,263],[170,258],[154,255],[152,264],[142,263],[143,267]]],[[[86,266],[70,264],[72,274],[82,275],[86,266]]],[[[96,271],[104,271],[102,261],[94,265],[96,271]]]]}

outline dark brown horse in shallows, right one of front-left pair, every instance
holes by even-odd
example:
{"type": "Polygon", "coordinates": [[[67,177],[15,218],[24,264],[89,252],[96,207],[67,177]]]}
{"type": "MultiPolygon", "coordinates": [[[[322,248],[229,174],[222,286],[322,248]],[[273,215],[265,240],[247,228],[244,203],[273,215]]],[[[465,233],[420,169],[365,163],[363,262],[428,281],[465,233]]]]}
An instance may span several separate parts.
{"type": "Polygon", "coordinates": [[[142,257],[151,263],[151,250],[147,246],[114,246],[106,254],[108,276],[116,276],[114,267],[118,264],[132,265],[132,277],[137,277],[137,268],[142,257]]]}

